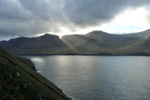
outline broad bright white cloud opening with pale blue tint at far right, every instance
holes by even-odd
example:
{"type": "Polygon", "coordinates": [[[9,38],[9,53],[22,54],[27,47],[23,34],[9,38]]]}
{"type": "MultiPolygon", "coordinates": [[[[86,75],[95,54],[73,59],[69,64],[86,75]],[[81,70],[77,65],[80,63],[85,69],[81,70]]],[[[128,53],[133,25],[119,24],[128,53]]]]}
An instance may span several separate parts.
{"type": "Polygon", "coordinates": [[[145,7],[127,9],[118,14],[110,23],[103,24],[102,30],[110,33],[131,33],[150,28],[145,7]]]}

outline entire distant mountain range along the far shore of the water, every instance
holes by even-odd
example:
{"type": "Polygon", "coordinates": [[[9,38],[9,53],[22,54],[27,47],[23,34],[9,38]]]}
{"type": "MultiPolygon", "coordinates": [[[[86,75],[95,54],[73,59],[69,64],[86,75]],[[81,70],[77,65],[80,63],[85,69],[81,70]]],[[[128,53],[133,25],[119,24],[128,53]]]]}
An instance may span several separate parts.
{"type": "Polygon", "coordinates": [[[150,55],[150,29],[131,34],[93,31],[86,35],[56,35],[1,41],[14,54],[150,55]]]}

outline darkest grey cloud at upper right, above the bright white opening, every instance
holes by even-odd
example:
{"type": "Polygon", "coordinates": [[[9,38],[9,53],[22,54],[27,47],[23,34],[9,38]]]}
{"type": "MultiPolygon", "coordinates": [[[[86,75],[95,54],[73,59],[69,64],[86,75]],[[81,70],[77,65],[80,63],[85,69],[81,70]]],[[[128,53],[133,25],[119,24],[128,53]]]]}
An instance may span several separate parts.
{"type": "Polygon", "coordinates": [[[128,7],[148,4],[149,0],[67,0],[64,10],[76,25],[86,26],[109,21],[128,7]]]}

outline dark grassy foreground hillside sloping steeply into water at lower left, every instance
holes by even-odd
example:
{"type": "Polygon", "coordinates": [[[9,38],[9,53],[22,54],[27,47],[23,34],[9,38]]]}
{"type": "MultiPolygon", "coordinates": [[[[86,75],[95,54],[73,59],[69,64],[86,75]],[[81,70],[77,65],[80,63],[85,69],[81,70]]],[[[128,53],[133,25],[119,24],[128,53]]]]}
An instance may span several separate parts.
{"type": "Polygon", "coordinates": [[[71,100],[33,63],[0,48],[0,100],[71,100]]]}

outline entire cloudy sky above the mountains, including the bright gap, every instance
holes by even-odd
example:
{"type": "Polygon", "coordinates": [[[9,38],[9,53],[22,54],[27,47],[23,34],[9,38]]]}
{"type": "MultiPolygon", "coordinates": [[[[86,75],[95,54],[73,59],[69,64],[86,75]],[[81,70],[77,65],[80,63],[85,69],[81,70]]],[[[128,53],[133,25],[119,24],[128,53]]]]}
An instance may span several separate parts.
{"type": "Polygon", "coordinates": [[[0,40],[150,29],[150,0],[0,0],[0,40]]]}

